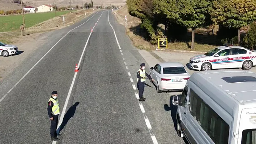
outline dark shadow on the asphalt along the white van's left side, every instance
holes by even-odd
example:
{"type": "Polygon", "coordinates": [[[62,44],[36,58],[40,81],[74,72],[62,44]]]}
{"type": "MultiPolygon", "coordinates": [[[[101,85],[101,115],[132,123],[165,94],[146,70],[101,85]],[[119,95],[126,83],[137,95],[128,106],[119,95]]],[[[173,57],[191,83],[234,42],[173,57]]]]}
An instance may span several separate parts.
{"type": "MultiPolygon", "coordinates": [[[[173,96],[174,96],[174,95],[173,95],[173,96]]],[[[174,123],[175,131],[177,131],[176,112],[177,112],[178,106],[172,104],[172,97],[173,97],[173,96],[170,97],[170,103],[169,103],[170,106],[168,106],[168,104],[165,104],[165,105],[164,105],[164,108],[165,108],[166,111],[171,111],[171,118],[172,118],[172,121],[173,121],[173,123],[174,123]]],[[[180,96],[181,96],[181,95],[178,95],[178,98],[180,98],[180,96]]],[[[185,142],[186,144],[188,144],[188,141],[186,140],[186,138],[183,138],[183,140],[184,140],[184,142],[185,142]]]]}

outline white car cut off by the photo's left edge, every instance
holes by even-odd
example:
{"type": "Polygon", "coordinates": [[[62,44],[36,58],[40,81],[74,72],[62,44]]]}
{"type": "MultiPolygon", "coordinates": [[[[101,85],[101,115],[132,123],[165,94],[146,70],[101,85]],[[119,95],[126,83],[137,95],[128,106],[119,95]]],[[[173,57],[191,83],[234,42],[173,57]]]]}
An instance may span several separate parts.
{"type": "Polygon", "coordinates": [[[4,44],[0,42],[0,56],[8,57],[18,52],[18,47],[15,45],[4,44]]]}

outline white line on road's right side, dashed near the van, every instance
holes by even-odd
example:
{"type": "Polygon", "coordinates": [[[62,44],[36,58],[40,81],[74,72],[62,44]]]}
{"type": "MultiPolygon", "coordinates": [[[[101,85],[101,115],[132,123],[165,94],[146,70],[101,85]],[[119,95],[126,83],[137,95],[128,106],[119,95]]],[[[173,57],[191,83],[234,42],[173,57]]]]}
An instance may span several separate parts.
{"type": "MultiPolygon", "coordinates": [[[[108,24],[111,26],[112,30],[114,31],[114,35],[115,35],[115,38],[116,38],[116,42],[117,42],[117,44],[118,44],[119,49],[121,49],[120,44],[119,44],[119,42],[118,42],[118,39],[117,39],[117,37],[116,37],[116,32],[115,32],[113,26],[112,26],[112,25],[110,24],[110,22],[109,22],[109,11],[107,12],[107,15],[108,15],[108,24]]],[[[123,55],[123,53],[121,53],[121,54],[123,55]]],[[[124,57],[123,57],[123,60],[125,61],[124,57]]],[[[128,67],[127,67],[127,66],[125,66],[125,67],[126,67],[126,69],[128,70],[128,67]]],[[[129,71],[128,71],[128,75],[129,75],[129,71]]],[[[130,76],[130,75],[129,75],[129,76],[130,76]]],[[[135,85],[134,85],[133,83],[132,83],[132,87],[133,87],[134,90],[136,90],[136,87],[135,87],[135,85]]],[[[138,94],[137,94],[136,92],[135,92],[135,96],[136,96],[137,99],[139,99],[138,94]]],[[[141,104],[141,103],[139,103],[139,104],[141,104]]],[[[141,105],[142,105],[142,104],[141,104],[141,105]]],[[[142,108],[143,108],[143,106],[142,106],[142,108]]],[[[143,110],[144,110],[144,108],[143,108],[143,110]]],[[[142,109],[141,109],[141,111],[142,111],[142,109]]],[[[144,110],[144,112],[145,112],[145,110],[144,110]]],[[[142,113],[143,113],[143,111],[142,111],[142,113]]],[[[146,125],[147,125],[147,127],[148,127],[148,129],[149,129],[149,133],[150,133],[150,136],[151,136],[151,139],[152,139],[153,143],[154,143],[154,144],[158,144],[157,139],[155,138],[154,134],[150,131],[150,130],[152,129],[152,127],[151,127],[151,125],[150,125],[150,122],[149,122],[148,117],[146,116],[145,113],[143,113],[143,115],[144,115],[144,119],[145,119],[146,125]]]]}

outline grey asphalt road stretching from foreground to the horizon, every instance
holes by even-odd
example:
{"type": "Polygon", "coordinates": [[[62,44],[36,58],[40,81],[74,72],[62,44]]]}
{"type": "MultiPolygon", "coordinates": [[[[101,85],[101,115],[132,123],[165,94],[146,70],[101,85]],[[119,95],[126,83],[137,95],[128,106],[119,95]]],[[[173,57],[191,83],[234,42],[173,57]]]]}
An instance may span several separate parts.
{"type": "Polygon", "coordinates": [[[170,97],[179,93],[158,94],[147,80],[146,101],[138,102],[131,79],[136,85],[136,72],[146,61],[132,46],[112,12],[109,12],[109,22],[115,29],[121,51],[108,23],[108,11],[94,14],[65,29],[47,33],[49,36],[42,48],[0,84],[0,98],[5,96],[0,102],[0,143],[52,143],[47,101],[52,91],[58,91],[62,112],[75,64],[98,18],[79,66],[61,125],[61,140],[57,143],[153,144],[154,136],[158,144],[185,143],[178,138],[171,117],[175,108],[170,105],[170,97]],[[145,118],[149,122],[145,122],[145,118]]]}

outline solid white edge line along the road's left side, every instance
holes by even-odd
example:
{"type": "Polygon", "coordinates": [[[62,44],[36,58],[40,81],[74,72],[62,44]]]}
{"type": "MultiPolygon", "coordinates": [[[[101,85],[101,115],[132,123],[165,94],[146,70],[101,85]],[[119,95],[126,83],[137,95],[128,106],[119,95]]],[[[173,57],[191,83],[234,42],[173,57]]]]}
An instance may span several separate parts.
{"type": "MultiPolygon", "coordinates": [[[[98,12],[97,12],[98,13],[98,12]]],[[[95,16],[97,13],[95,13],[93,16],[95,16]]],[[[89,19],[91,19],[93,16],[91,16],[89,19]]],[[[87,21],[89,21],[89,19],[87,19],[87,21]]],[[[84,23],[82,23],[81,25],[84,25],[87,21],[85,21],[84,23]]],[[[77,26],[77,27],[80,27],[81,25],[77,26]]],[[[76,29],[77,27],[75,27],[74,29],[76,29]]],[[[72,30],[74,30],[72,29],[72,30]]],[[[71,32],[72,30],[68,31],[71,32]]],[[[67,34],[68,34],[67,33],[67,34]]],[[[56,44],[54,44],[54,46],[52,46],[52,48],[46,53],[44,54],[44,56],[42,58],[40,58],[40,60],[34,65],[31,67],[31,69],[29,71],[27,71],[27,73],[20,79],[18,80],[18,82],[16,84],[14,84],[14,86],[0,99],[0,102],[13,90],[14,87],[16,87],[22,79],[24,79],[26,77],[27,74],[29,74],[29,72],[34,69],[34,67],[55,47],[55,45],[57,45],[67,34],[65,34],[56,44]]]]}

